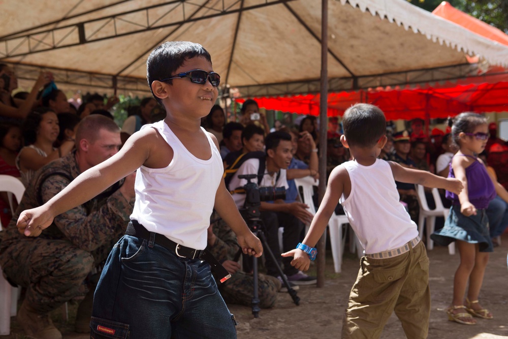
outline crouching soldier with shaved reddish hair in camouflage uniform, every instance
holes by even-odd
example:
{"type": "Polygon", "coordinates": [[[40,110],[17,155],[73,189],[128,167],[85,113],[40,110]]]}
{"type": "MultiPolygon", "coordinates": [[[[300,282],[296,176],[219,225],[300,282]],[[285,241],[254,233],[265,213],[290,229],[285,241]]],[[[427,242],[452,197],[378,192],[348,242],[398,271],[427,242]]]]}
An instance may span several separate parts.
{"type": "MultiPolygon", "coordinates": [[[[120,129],[101,115],[84,118],[76,151],[41,168],[27,187],[0,243],[0,265],[7,279],[26,288],[18,321],[35,338],[61,338],[48,313],[86,293],[93,267],[104,262],[125,232],[134,204],[134,177],[115,184],[85,204],[58,215],[39,237],[18,233],[21,211],[45,203],[76,178],[118,152],[120,129]]],[[[89,331],[93,286],[78,309],[77,331],[89,331]]]]}

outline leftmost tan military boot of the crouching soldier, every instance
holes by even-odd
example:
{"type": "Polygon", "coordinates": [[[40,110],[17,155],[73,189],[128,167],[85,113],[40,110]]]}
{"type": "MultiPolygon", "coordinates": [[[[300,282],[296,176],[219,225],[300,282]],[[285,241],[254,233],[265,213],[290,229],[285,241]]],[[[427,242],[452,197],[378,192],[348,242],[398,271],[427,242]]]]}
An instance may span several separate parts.
{"type": "Polygon", "coordinates": [[[62,334],[53,325],[48,313],[39,313],[32,309],[26,299],[19,307],[18,323],[25,334],[33,339],[61,339],[62,334]]]}

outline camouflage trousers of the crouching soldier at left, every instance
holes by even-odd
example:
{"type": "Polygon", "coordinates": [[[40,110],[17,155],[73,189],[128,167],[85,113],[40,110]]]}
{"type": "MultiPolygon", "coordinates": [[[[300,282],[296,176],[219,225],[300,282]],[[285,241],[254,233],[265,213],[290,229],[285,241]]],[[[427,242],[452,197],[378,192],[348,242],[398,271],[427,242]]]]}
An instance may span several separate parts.
{"type": "Polygon", "coordinates": [[[0,265],[11,282],[26,287],[30,307],[46,313],[87,292],[85,278],[106,260],[111,246],[88,252],[67,240],[27,238],[5,249],[0,265]]]}

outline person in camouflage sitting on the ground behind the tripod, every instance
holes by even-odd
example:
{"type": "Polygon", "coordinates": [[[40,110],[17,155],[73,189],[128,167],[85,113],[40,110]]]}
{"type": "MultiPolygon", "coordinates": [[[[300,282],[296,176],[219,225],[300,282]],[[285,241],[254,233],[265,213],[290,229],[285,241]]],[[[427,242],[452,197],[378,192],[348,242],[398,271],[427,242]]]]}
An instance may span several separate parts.
{"type": "MultiPolygon", "coordinates": [[[[223,220],[219,220],[208,228],[207,249],[231,274],[230,279],[222,284],[217,284],[224,301],[250,306],[254,291],[254,278],[252,274],[240,271],[240,264],[234,261],[240,246],[235,233],[223,220]]],[[[273,276],[260,273],[258,284],[259,306],[262,308],[273,307],[277,300],[277,292],[281,287],[280,281],[273,276]]]]}

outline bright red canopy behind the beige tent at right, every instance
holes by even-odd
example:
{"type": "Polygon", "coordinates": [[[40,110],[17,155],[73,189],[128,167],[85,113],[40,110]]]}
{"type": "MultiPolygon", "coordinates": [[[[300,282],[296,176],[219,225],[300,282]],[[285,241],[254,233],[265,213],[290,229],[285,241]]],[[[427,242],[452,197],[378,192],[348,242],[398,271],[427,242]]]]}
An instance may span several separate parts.
{"type": "MultiPolygon", "coordinates": [[[[453,21],[473,33],[508,45],[508,35],[501,30],[442,2],[434,15],[453,21]]],[[[319,115],[320,95],[254,98],[266,109],[319,115]]],[[[244,99],[237,99],[243,103],[244,99]]],[[[491,67],[481,77],[470,77],[456,83],[428,88],[378,88],[356,92],[330,93],[328,116],[342,115],[351,105],[370,103],[381,108],[387,119],[446,118],[464,111],[508,111],[508,73],[501,67],[491,67]]]]}

